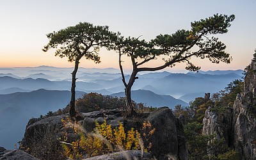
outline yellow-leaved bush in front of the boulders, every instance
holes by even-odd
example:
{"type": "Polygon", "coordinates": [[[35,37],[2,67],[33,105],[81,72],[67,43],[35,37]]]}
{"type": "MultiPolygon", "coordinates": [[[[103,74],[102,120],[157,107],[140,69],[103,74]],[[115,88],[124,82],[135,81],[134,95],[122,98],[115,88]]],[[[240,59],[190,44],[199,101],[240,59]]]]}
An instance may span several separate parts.
{"type": "Polygon", "coordinates": [[[63,122],[65,126],[71,127],[79,135],[78,140],[71,142],[68,142],[68,138],[65,136],[62,144],[65,155],[72,159],[99,156],[123,150],[149,152],[152,145],[148,142],[148,138],[155,131],[149,122],[143,123],[140,132],[133,128],[125,132],[123,124],[119,123],[118,127],[113,128],[104,121],[103,124],[95,122],[94,131],[86,134],[79,125],[70,124],[69,121],[65,120],[63,122]]]}

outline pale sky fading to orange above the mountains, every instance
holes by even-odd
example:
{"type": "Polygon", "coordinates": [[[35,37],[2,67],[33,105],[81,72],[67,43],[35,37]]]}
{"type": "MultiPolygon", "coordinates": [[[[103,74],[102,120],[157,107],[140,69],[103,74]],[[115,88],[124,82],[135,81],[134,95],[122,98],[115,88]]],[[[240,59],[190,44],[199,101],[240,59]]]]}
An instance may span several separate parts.
{"type": "MultiPolygon", "coordinates": [[[[178,29],[189,29],[190,23],[215,13],[234,14],[228,33],[218,36],[232,56],[230,64],[212,64],[209,60],[193,60],[202,70],[244,69],[256,49],[255,0],[8,0],[0,2],[0,67],[73,67],[67,59],[54,56],[54,50],[43,52],[49,40],[47,33],[74,26],[79,22],[109,26],[124,36],[151,40],[159,34],[172,34],[178,29]]],[[[80,67],[118,68],[118,55],[100,51],[101,63],[82,60],[80,67]]],[[[131,68],[129,60],[124,67],[131,68]]],[[[161,65],[154,61],[148,66],[161,65]]],[[[184,70],[179,64],[166,70],[184,70]]]]}

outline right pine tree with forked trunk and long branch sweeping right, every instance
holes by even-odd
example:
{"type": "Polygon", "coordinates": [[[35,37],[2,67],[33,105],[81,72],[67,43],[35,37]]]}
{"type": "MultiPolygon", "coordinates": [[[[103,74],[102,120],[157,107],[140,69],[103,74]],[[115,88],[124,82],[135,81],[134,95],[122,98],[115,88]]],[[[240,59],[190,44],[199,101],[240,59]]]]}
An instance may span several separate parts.
{"type": "Polygon", "coordinates": [[[230,63],[232,58],[225,52],[226,46],[211,36],[227,33],[234,15],[213,15],[207,19],[191,22],[191,29],[181,29],[172,35],[158,35],[150,42],[138,38],[121,37],[115,45],[115,51],[119,54],[119,66],[122,73],[122,81],[125,86],[125,99],[127,108],[126,116],[132,116],[134,106],[131,103],[131,88],[138,79],[138,72],[156,71],[166,67],[174,67],[177,63],[186,63],[187,70],[197,71],[200,67],[193,64],[192,57],[207,58],[212,63],[230,63]],[[122,55],[129,56],[132,63],[132,73],[129,81],[125,81],[122,68],[122,55]],[[157,67],[145,67],[149,61],[163,59],[163,64],[157,67]]]}

